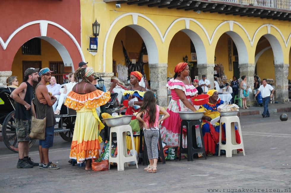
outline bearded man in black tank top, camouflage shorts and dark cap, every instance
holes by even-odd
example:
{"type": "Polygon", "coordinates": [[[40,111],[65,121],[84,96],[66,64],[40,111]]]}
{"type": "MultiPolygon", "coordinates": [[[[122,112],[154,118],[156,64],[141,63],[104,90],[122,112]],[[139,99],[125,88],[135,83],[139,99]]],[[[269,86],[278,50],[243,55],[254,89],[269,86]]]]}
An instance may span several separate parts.
{"type": "MultiPolygon", "coordinates": [[[[15,125],[16,138],[18,141],[18,163],[17,168],[33,168],[38,166],[28,156],[29,153],[29,133],[31,129],[31,115],[35,116],[32,103],[33,83],[38,82],[39,68],[28,68],[24,72],[23,82],[18,88],[14,89],[10,95],[16,101],[15,109],[15,125]]],[[[41,101],[43,102],[43,100],[41,101]]]]}

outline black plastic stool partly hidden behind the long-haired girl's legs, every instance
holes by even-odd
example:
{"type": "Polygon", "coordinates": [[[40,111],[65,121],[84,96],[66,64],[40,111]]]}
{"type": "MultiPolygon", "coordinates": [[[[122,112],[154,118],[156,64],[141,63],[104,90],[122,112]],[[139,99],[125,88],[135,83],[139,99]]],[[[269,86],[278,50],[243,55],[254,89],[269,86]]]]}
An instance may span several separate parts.
{"type": "MultiPolygon", "coordinates": [[[[159,153],[158,156],[159,158],[162,158],[162,163],[165,164],[166,160],[165,160],[165,155],[164,155],[164,151],[163,151],[163,144],[162,144],[162,138],[161,138],[161,132],[159,130],[159,153]]],[[[143,129],[140,129],[140,144],[139,144],[139,154],[138,157],[143,159],[143,166],[147,166],[149,164],[148,161],[148,150],[146,148],[146,141],[145,141],[145,136],[143,135],[143,129]]],[[[160,159],[158,159],[159,162],[160,159]]],[[[139,163],[141,161],[139,160],[139,163]]]]}

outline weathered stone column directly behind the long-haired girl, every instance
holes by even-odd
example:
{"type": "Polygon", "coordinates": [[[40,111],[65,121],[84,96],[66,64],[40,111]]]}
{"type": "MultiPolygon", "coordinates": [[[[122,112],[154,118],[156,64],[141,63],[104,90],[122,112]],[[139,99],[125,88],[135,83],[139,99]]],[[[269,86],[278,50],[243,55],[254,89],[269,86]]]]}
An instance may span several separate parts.
{"type": "Polygon", "coordinates": [[[151,90],[156,93],[159,106],[167,106],[167,69],[168,64],[149,64],[151,90]]]}

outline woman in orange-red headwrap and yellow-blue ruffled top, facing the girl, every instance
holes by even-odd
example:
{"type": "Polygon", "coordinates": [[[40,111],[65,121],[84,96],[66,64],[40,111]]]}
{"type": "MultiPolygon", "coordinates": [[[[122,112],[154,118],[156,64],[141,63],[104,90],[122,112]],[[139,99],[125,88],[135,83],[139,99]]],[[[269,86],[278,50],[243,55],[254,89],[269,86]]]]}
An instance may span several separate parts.
{"type": "MultiPolygon", "coordinates": [[[[124,99],[129,100],[128,108],[125,111],[126,115],[132,115],[140,110],[143,104],[143,95],[146,93],[146,88],[138,84],[142,78],[142,74],[138,71],[130,73],[130,84],[128,90],[124,91],[124,99]]],[[[136,116],[132,116],[132,121],[129,124],[132,127],[133,141],[135,142],[135,150],[139,153],[139,139],[140,139],[140,126],[136,116]]],[[[129,132],[126,134],[127,149],[132,149],[131,138],[129,132]]]]}

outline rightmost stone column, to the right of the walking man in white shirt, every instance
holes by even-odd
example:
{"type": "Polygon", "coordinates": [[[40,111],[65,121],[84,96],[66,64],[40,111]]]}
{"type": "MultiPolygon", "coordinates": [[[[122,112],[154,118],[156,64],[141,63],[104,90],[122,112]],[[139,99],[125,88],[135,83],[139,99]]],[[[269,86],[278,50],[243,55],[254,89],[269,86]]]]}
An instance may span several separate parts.
{"type": "Polygon", "coordinates": [[[288,97],[288,68],[289,64],[275,64],[276,99],[280,103],[289,101],[288,97]]]}

